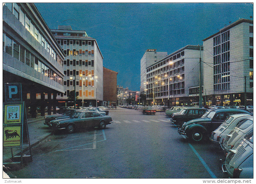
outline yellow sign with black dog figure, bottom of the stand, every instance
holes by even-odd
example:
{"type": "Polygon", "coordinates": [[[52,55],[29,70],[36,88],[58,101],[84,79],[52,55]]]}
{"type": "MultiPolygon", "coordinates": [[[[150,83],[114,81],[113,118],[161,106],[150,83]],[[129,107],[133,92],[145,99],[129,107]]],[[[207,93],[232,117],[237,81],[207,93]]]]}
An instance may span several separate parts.
{"type": "Polygon", "coordinates": [[[3,128],[3,147],[21,146],[21,126],[3,128]]]}

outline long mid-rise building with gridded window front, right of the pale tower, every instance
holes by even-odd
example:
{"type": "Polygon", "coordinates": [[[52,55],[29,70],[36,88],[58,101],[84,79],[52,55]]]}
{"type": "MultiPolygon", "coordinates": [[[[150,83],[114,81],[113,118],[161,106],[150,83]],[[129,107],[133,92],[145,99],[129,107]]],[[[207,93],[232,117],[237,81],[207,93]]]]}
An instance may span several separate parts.
{"type": "Polygon", "coordinates": [[[147,105],[192,105],[189,88],[199,85],[199,58],[203,47],[187,45],[146,68],[147,105]]]}

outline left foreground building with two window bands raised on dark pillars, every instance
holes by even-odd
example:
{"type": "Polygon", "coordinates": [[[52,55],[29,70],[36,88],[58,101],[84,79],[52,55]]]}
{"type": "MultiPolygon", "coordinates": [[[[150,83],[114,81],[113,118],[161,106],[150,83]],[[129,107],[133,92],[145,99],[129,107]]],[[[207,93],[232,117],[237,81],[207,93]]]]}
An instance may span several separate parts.
{"type": "MultiPolygon", "coordinates": [[[[65,54],[33,3],[3,5],[3,83],[21,83],[22,99],[41,116],[56,113],[56,94],[64,93],[65,54]]],[[[28,112],[28,111],[27,111],[28,112]]]]}

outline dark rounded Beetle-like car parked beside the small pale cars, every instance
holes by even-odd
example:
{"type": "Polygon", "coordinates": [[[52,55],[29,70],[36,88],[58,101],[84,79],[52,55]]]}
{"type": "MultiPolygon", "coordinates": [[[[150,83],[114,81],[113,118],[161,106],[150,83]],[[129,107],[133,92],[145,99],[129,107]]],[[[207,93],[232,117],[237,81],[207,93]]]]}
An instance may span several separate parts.
{"type": "Polygon", "coordinates": [[[240,109],[218,109],[206,112],[201,118],[185,122],[178,129],[179,134],[185,135],[194,141],[202,141],[210,137],[212,131],[217,129],[224,120],[232,114],[250,114],[240,109]]]}

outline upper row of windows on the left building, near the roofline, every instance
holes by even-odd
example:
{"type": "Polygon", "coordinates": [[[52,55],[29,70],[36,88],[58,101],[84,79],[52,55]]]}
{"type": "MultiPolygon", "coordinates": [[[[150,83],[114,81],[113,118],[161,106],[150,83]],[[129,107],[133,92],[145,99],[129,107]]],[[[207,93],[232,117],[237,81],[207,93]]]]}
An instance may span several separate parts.
{"type": "Polygon", "coordinates": [[[56,60],[59,64],[63,65],[62,59],[56,54],[54,49],[43,37],[39,29],[35,26],[35,23],[31,21],[24,10],[17,3],[5,3],[8,9],[16,16],[16,18],[22,23],[23,26],[32,34],[33,37],[43,46],[43,48],[56,60]]]}

